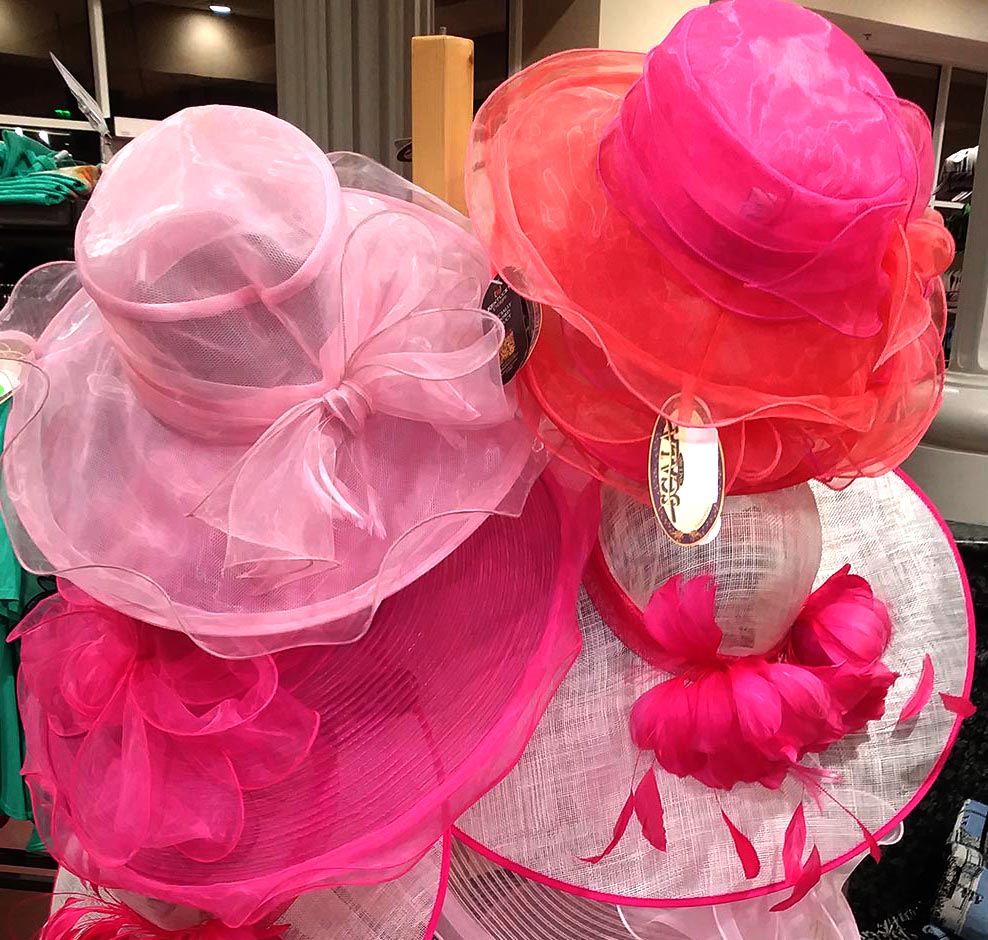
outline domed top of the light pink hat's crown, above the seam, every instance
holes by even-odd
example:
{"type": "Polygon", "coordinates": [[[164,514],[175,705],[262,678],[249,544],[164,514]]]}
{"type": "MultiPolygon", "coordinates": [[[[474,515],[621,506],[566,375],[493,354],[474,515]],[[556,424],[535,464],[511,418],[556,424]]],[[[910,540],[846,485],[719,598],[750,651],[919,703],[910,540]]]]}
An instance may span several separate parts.
{"type": "Polygon", "coordinates": [[[76,257],[121,312],[187,319],[244,288],[283,287],[341,212],[336,175],[300,130],[248,108],[188,108],[110,162],[76,257]]]}

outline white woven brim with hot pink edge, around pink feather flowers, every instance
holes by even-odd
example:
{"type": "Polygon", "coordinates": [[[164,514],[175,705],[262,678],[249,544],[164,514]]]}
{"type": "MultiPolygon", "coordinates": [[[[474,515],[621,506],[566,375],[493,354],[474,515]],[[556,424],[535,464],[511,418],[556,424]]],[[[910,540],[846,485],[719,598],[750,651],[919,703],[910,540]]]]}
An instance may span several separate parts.
{"type": "MultiPolygon", "coordinates": [[[[862,480],[841,493],[814,487],[823,527],[817,584],[850,563],[888,607],[892,640],[882,661],[899,678],[884,717],[804,764],[833,771],[834,799],[806,804],[807,845],[830,871],[867,848],[856,820],[876,837],[894,828],[940,772],[961,719],[938,695],[898,723],[928,653],[937,693],[967,696],[974,663],[970,592],[945,523],[901,475],[862,480]],[[846,809],[837,805],[839,801],[846,809]],[[852,816],[853,814],[853,816],[852,816]]],[[[667,676],[631,653],[587,594],[583,650],[515,770],[458,823],[458,834],[505,867],[552,887],[610,903],[689,906],[743,900],[787,886],[786,828],[804,799],[792,776],[778,790],[736,784],[711,790],[656,768],[668,851],[637,826],[606,858],[581,861],[611,839],[641,753],[628,720],[640,695],[667,676]],[[761,868],[745,877],[722,811],[753,843],[761,868]]]]}

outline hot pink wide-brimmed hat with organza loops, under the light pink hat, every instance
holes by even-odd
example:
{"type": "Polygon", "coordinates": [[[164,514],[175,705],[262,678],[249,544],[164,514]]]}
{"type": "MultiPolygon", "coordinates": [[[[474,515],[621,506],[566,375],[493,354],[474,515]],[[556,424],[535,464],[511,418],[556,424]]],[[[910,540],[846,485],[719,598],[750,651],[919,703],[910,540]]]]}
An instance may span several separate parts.
{"type": "Polygon", "coordinates": [[[248,659],[60,582],[17,631],[45,845],[84,881],[231,928],[403,875],[510,770],[575,660],[597,510],[545,475],[359,642],[248,659]]]}

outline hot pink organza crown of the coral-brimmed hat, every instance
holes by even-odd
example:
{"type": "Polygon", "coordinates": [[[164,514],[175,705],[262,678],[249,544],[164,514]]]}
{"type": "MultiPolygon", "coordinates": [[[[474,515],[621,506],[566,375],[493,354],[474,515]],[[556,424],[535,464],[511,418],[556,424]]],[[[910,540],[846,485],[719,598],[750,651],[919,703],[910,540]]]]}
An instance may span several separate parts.
{"type": "Polygon", "coordinates": [[[850,336],[879,331],[883,255],[933,181],[922,111],[847,35],[781,0],[683,17],[647,56],[600,167],[621,211],[711,297],[740,281],[736,312],[850,336]]]}

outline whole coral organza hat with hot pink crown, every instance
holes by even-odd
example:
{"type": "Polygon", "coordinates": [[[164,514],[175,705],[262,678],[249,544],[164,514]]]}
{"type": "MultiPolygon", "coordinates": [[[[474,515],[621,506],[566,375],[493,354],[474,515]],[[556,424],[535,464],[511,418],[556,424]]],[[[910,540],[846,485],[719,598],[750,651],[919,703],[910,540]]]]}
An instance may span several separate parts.
{"type": "Polygon", "coordinates": [[[932,178],[925,115],[785,0],[513,76],[474,122],[467,201],[546,308],[524,373],[541,433],[638,497],[659,415],[720,428],[729,492],[897,466],[943,379],[932,178]]]}

